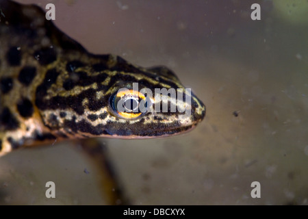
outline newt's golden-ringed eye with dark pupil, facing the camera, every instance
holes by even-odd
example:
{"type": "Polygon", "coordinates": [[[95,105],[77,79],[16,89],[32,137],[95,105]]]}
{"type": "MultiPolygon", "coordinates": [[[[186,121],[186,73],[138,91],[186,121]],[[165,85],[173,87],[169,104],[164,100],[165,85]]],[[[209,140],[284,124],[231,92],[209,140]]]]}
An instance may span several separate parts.
{"type": "Polygon", "coordinates": [[[141,92],[125,89],[114,93],[110,102],[116,115],[132,120],[139,118],[147,111],[151,100],[141,92]]]}

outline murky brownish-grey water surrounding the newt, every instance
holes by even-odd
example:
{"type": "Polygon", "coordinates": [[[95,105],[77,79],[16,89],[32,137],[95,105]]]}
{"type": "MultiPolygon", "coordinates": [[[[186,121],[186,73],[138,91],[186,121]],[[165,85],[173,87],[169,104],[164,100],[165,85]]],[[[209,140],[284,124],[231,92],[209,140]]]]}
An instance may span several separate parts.
{"type": "MultiPolygon", "coordinates": [[[[133,204],[307,205],[307,1],[52,2],[56,25],[89,51],[164,64],[207,106],[183,136],[105,140],[133,204]]],[[[67,143],[0,165],[2,204],[104,203],[97,167],[67,143]],[[44,197],[45,181],[59,198],[44,197]]]]}

